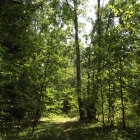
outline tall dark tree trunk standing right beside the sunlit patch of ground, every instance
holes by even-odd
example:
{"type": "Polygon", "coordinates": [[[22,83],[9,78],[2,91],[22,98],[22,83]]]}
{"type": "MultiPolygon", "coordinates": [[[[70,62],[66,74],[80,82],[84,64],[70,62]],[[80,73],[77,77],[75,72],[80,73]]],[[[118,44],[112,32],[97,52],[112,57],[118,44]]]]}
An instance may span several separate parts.
{"type": "Polygon", "coordinates": [[[84,120],[85,119],[84,104],[81,97],[81,67],[80,67],[81,60],[80,60],[80,46],[79,46],[79,36],[78,36],[77,0],[74,0],[74,28],[75,28],[76,72],[77,72],[76,92],[78,95],[80,120],[84,120]]]}

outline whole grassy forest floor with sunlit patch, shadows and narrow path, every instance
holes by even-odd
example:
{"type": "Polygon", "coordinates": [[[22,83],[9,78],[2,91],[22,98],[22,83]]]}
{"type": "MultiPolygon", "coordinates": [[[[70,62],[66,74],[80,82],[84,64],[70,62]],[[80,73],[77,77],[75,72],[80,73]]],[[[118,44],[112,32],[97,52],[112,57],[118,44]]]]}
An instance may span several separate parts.
{"type": "Polygon", "coordinates": [[[102,127],[99,122],[79,122],[77,118],[42,118],[33,134],[29,125],[4,126],[0,125],[0,140],[140,140],[140,127],[123,130],[102,127]]]}

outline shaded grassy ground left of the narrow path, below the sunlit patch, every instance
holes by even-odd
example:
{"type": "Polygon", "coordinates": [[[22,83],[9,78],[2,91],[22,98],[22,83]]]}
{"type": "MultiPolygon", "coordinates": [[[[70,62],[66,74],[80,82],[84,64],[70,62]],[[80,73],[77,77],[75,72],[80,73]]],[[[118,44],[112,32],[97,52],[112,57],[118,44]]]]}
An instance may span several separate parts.
{"type": "Polygon", "coordinates": [[[53,122],[39,122],[32,134],[32,128],[12,127],[0,130],[0,140],[66,140],[61,125],[53,122]]]}

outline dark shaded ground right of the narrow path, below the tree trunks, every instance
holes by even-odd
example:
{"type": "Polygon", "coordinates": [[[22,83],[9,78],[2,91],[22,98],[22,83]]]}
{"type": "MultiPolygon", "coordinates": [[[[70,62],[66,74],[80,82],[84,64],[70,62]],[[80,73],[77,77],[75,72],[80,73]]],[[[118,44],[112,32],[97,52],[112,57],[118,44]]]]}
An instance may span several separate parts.
{"type": "Polygon", "coordinates": [[[102,128],[80,122],[67,122],[64,127],[71,140],[140,140],[140,128],[102,128]]]}

